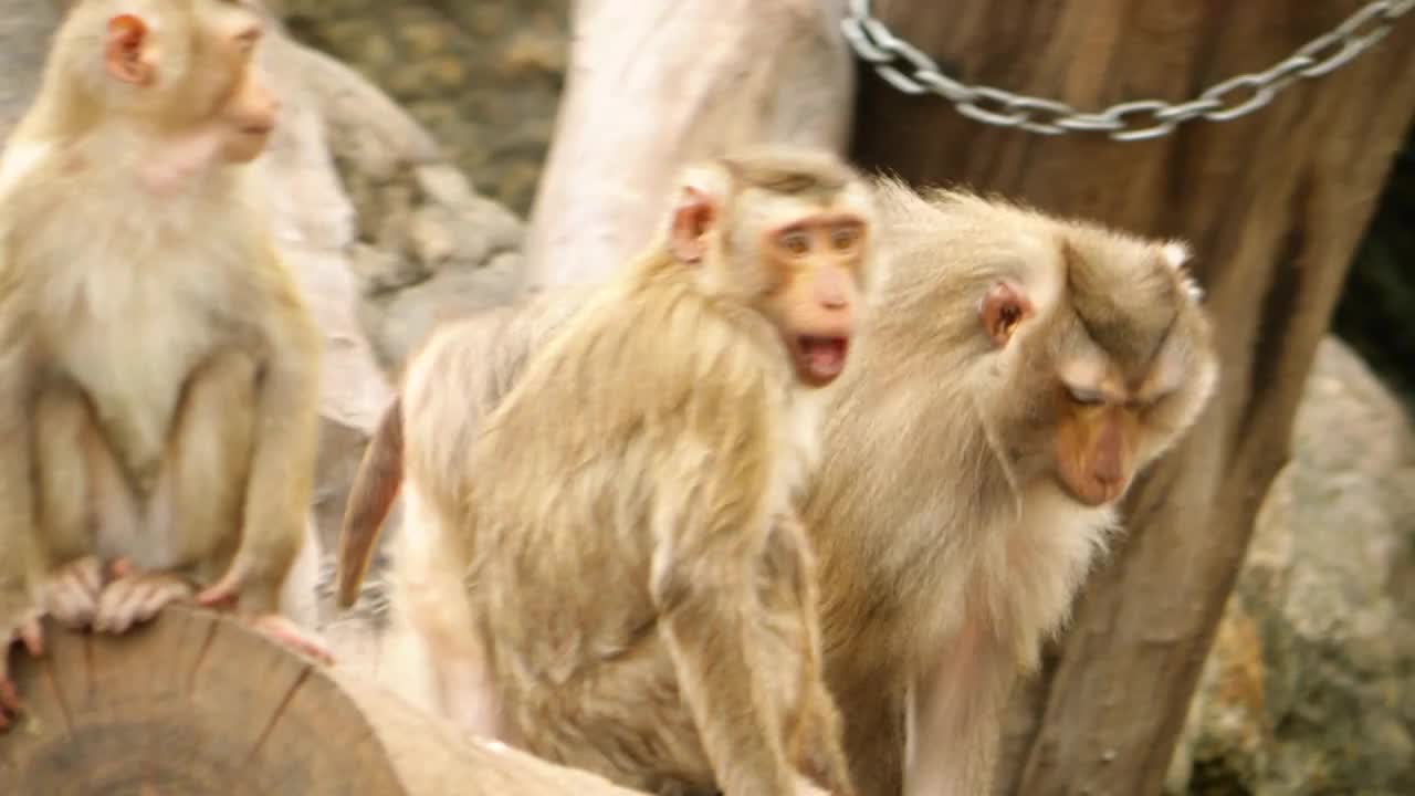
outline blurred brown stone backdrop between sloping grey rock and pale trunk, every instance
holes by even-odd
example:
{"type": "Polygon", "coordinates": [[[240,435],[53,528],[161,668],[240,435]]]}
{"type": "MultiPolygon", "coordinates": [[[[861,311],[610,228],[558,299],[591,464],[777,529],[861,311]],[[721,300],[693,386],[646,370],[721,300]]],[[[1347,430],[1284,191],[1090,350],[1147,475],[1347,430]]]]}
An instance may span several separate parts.
{"type": "Polygon", "coordinates": [[[525,214],[565,81],[569,0],[279,0],[300,41],[368,75],[450,161],[525,214]]]}

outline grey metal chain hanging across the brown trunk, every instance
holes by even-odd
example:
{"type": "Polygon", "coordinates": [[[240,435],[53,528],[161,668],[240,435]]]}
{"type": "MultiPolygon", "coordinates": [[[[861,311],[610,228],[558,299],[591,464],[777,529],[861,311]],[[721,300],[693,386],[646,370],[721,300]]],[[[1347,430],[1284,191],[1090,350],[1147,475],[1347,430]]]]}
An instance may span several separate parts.
{"type": "Polygon", "coordinates": [[[934,92],[952,102],[969,119],[1033,133],[1105,133],[1118,142],[1169,135],[1193,119],[1227,122],[1258,110],[1298,78],[1320,78],[1385,38],[1415,0],[1374,0],[1330,33],[1299,47],[1272,68],[1238,75],[1210,86],[1197,99],[1170,103],[1136,99],[1099,113],[1077,110],[1064,102],[1012,93],[1000,88],[968,85],[945,75],[932,58],[899,38],[870,14],[870,0],[850,0],[841,21],[855,52],[904,93],[934,92]],[[900,62],[896,65],[896,62],[900,62]]]}

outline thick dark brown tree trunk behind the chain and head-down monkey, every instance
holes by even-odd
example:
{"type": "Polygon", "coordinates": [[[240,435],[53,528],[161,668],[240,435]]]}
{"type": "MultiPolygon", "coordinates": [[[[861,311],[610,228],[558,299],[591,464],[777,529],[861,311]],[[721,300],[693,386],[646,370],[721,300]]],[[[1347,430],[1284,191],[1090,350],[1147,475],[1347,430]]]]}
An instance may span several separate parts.
{"type": "MultiPolygon", "coordinates": [[[[882,0],[876,13],[949,76],[1099,110],[1173,103],[1266,69],[1364,3],[882,0]]],[[[1254,514],[1286,460],[1317,341],[1411,122],[1415,14],[1266,108],[1132,143],[982,125],[870,72],[853,149],[863,166],[1196,244],[1218,322],[1220,397],[1126,501],[1128,537],[1013,705],[996,789],[1157,793],[1254,514]]],[[[1228,106],[1252,96],[1238,93],[1228,106]]]]}

